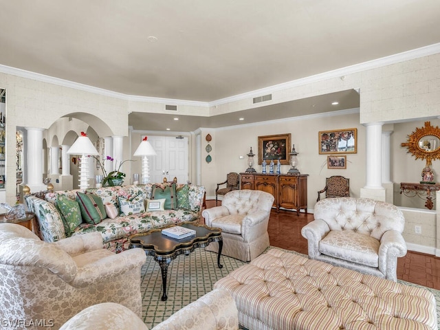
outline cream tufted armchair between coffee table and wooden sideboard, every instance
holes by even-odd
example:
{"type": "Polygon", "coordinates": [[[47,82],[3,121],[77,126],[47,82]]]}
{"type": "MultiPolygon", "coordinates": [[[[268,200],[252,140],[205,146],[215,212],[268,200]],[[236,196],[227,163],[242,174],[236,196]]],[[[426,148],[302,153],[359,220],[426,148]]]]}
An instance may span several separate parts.
{"type": "MultiPolygon", "coordinates": [[[[221,206],[201,212],[206,225],[221,228],[223,236],[222,254],[242,261],[251,261],[269,246],[270,210],[274,197],[260,190],[232,190],[221,206]]],[[[218,252],[217,244],[206,247],[218,252]]]]}

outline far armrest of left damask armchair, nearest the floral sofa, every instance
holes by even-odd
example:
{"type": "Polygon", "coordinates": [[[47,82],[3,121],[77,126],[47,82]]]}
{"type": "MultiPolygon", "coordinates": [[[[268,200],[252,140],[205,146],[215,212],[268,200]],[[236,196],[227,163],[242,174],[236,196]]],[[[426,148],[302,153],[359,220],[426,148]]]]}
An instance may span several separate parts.
{"type": "Polygon", "coordinates": [[[99,232],[87,232],[86,234],[71,236],[67,239],[56,241],[54,244],[61,250],[70,254],[70,256],[77,256],[84,252],[104,248],[104,245],[102,244],[102,235],[99,232]]]}

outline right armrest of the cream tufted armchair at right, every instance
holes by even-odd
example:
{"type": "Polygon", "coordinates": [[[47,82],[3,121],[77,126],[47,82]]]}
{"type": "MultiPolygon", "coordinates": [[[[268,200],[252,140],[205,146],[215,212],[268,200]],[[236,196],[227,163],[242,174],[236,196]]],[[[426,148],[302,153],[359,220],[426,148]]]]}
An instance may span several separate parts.
{"type": "Polygon", "coordinates": [[[379,270],[385,278],[397,281],[397,258],[406,255],[404,236],[397,230],[388,230],[382,235],[379,247],[379,270]]]}

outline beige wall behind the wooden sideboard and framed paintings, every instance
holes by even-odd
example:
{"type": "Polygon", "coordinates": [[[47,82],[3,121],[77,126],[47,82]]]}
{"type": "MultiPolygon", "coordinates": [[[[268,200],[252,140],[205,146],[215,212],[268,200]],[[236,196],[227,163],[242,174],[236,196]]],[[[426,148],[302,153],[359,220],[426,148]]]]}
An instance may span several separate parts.
{"type": "MultiPolygon", "coordinates": [[[[203,131],[202,155],[207,153],[204,148],[207,142],[206,134],[212,135],[212,162],[206,164],[203,160],[202,182],[206,186],[207,197],[215,198],[217,183],[225,181],[229,172],[244,172],[248,168],[247,153],[252,151],[258,162],[258,137],[260,135],[292,134],[292,144],[295,144],[298,155],[298,169],[307,178],[308,208],[313,209],[318,196],[318,190],[324,188],[325,178],[331,175],[343,175],[350,178],[351,196],[359,197],[360,188],[365,184],[365,127],[359,124],[359,113],[349,113],[334,116],[313,116],[312,118],[292,118],[261,124],[236,126],[233,128],[203,131]],[[318,153],[318,131],[333,129],[358,129],[358,153],[347,154],[347,169],[328,169],[327,155],[318,153]],[[239,159],[243,155],[244,159],[239,159]]],[[[290,146],[292,148],[292,146],[290,146]]],[[[254,168],[261,172],[261,165],[254,168]]],[[[290,166],[282,165],[281,173],[287,173],[290,166]]]]}

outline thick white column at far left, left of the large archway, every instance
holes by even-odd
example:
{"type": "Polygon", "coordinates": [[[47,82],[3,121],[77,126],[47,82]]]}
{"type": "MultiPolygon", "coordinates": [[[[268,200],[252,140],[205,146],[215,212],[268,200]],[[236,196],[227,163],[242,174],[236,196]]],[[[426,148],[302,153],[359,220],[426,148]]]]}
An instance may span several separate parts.
{"type": "Polygon", "coordinates": [[[25,170],[28,182],[25,186],[30,188],[31,192],[46,190],[43,184],[43,129],[36,127],[26,127],[26,159],[25,170]]]}

